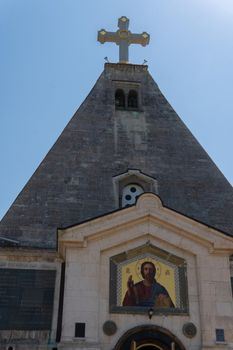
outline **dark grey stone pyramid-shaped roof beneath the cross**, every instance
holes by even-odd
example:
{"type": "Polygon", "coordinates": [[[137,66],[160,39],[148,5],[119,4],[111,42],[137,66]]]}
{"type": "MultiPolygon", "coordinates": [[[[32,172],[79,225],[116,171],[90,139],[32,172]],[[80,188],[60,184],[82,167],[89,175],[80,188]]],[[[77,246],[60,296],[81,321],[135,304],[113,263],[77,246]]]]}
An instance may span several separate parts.
{"type": "Polygon", "coordinates": [[[147,66],[129,64],[105,65],[2,219],[0,236],[21,246],[56,248],[58,227],[119,209],[113,177],[128,169],[157,180],[164,206],[233,236],[232,186],[169,105],[147,66]],[[139,110],[115,109],[115,90],[122,84],[139,89],[139,110]]]}

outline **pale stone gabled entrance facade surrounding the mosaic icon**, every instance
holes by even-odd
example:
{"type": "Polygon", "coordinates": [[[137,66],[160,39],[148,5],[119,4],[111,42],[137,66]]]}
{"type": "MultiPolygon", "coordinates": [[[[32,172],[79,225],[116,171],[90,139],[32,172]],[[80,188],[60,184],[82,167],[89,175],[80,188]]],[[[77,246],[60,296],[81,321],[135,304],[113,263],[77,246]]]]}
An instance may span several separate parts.
{"type": "Polygon", "coordinates": [[[185,349],[231,348],[233,303],[229,255],[232,238],[164,208],[158,197],[143,194],[136,207],[61,230],[59,252],[66,261],[62,337],[59,349],[114,349],[129,329],[156,325],[175,334],[185,349]],[[150,243],[186,261],[189,311],[184,315],[109,312],[111,256],[150,243]],[[103,324],[117,325],[113,336],[103,324]],[[76,322],[86,323],[86,338],[74,338],[76,322]],[[183,325],[192,322],[197,335],[189,339],[183,325]],[[217,344],[215,329],[225,330],[226,345],[217,344]],[[82,345],[80,345],[82,344],[82,345]]]}

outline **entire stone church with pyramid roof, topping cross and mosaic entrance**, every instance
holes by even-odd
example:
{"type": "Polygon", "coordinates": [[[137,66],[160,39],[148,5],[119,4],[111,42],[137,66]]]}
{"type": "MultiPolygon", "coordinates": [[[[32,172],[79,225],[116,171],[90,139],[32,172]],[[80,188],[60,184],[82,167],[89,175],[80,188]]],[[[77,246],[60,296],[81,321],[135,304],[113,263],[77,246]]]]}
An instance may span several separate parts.
{"type": "Polygon", "coordinates": [[[118,27],[0,223],[0,350],[233,349],[232,186],[118,27]]]}

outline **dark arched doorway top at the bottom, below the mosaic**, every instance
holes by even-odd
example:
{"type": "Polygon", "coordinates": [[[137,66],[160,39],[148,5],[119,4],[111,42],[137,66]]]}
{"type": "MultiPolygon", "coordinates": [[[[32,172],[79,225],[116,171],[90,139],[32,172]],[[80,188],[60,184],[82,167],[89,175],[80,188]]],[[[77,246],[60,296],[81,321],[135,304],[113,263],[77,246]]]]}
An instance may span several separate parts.
{"type": "Polygon", "coordinates": [[[180,340],[165,328],[144,325],[127,331],[114,350],[185,350],[180,340]]]}

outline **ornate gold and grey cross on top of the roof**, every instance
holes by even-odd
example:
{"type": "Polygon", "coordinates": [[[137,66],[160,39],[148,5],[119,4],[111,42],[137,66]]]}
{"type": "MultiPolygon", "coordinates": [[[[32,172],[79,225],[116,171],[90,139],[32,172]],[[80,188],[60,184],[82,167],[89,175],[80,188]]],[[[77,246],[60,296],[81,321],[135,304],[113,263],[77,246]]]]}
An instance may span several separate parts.
{"type": "Polygon", "coordinates": [[[146,46],[149,44],[150,35],[146,32],[142,34],[132,34],[129,27],[129,19],[122,16],[118,19],[117,32],[107,32],[105,29],[98,31],[98,41],[101,44],[105,42],[113,42],[119,45],[119,62],[128,63],[129,60],[129,45],[130,44],[141,44],[146,46]]]}

